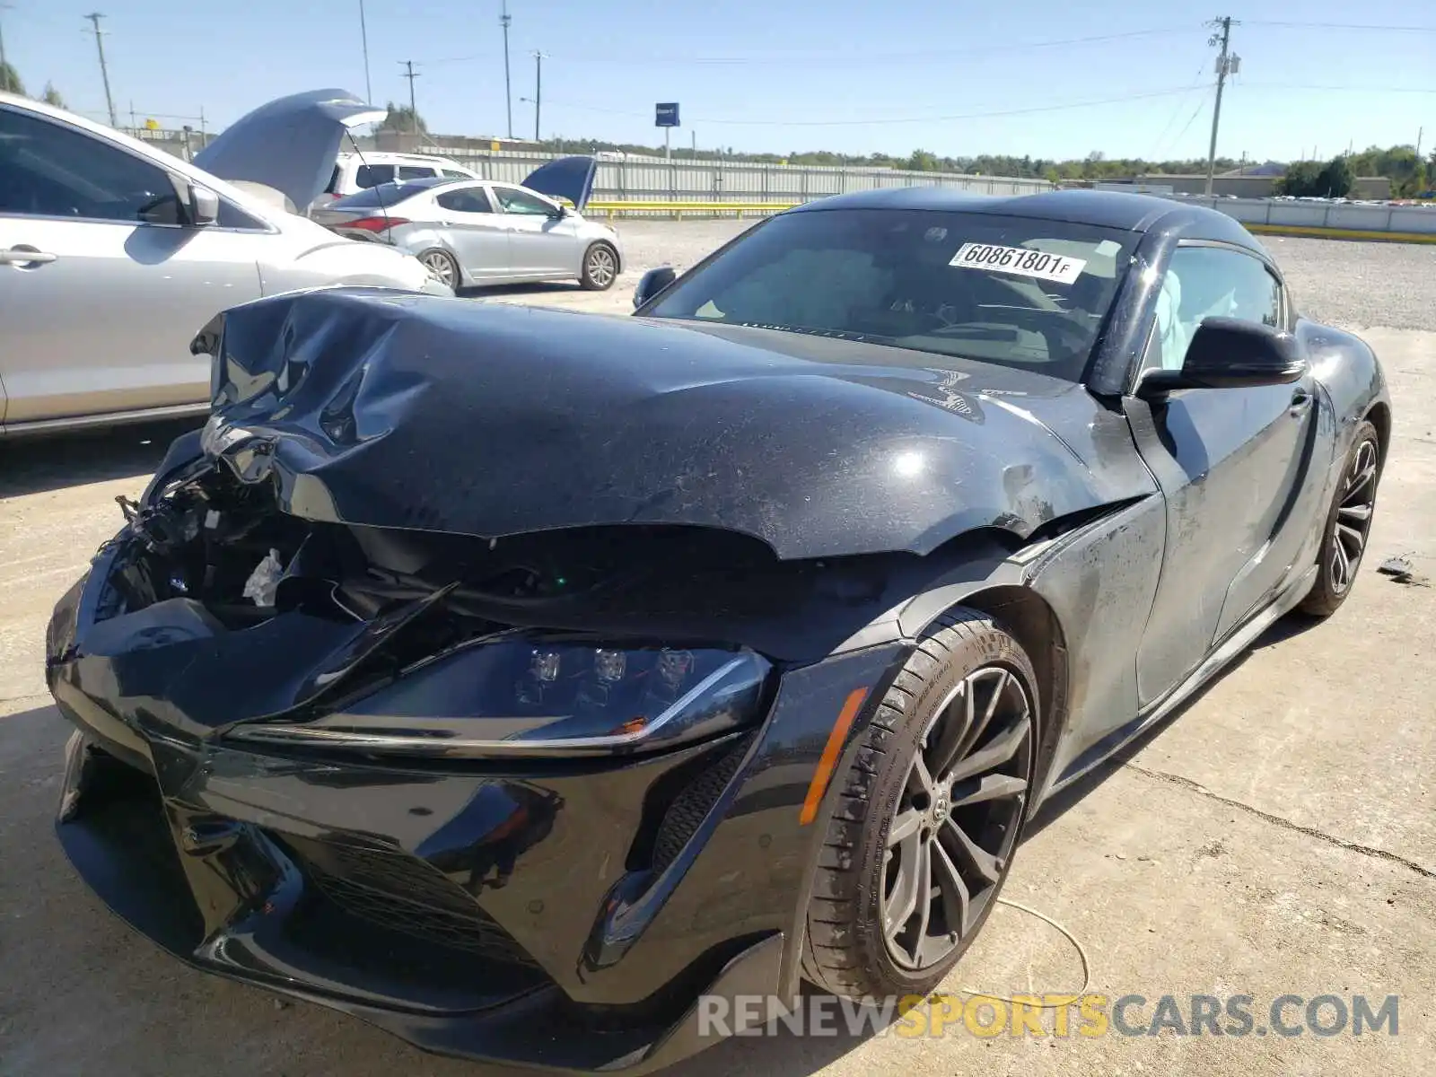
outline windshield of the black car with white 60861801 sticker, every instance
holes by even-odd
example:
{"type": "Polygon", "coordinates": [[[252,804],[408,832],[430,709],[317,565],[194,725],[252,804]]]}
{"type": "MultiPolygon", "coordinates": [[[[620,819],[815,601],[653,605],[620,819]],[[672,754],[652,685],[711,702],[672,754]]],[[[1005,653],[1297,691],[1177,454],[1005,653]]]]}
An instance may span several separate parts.
{"type": "Polygon", "coordinates": [[[757,227],[652,317],[821,333],[1080,381],[1136,234],[929,210],[819,210],[757,227]]]}

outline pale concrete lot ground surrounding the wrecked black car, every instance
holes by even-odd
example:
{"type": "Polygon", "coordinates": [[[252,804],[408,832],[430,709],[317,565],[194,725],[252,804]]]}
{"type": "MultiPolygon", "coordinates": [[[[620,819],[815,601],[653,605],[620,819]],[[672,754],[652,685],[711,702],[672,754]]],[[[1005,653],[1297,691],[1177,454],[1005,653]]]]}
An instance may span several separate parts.
{"type": "MultiPolygon", "coordinates": [[[[638,270],[688,264],[732,231],[629,224],[633,271],[615,292],[485,299],[620,312],[638,270]]],[[[1409,554],[1436,576],[1436,263],[1376,244],[1288,240],[1278,254],[1290,254],[1305,309],[1366,319],[1391,381],[1396,437],[1356,593],[1325,623],[1278,626],[1173,722],[1053,806],[1005,896],[1071,932],[1090,991],[1146,997],[1129,1024],[1146,1025],[1162,995],[1179,997],[1183,1012],[1192,994],[1251,995],[1258,1028],[1284,994],[1366,995],[1373,1008],[1399,995],[1399,1034],[979,1038],[959,1022],[941,1037],[729,1040],[675,1077],[1430,1071],[1436,589],[1376,567],[1409,554]],[[1370,274],[1360,296],[1351,266],[1370,274]],[[1384,296],[1394,299],[1383,306],[1384,296]],[[1391,327],[1412,319],[1420,327],[1391,327]]],[[[181,966],[121,928],[60,854],[52,816],[67,731],[45,695],[45,622],[115,530],[115,495],[139,493],[175,432],[0,445],[0,1074],[497,1074],[181,966]]],[[[1063,933],[999,908],[946,989],[1044,994],[1080,982],[1063,933]]],[[[1287,1015],[1300,1020],[1301,1007],[1287,1015]]]]}

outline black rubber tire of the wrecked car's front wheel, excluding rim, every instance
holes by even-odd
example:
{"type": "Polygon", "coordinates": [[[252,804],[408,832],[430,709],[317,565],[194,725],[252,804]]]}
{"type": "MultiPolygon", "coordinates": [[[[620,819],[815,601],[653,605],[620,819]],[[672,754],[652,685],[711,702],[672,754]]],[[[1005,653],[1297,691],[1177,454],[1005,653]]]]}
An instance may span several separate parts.
{"type": "MultiPolygon", "coordinates": [[[[834,777],[837,807],[819,854],[813,898],[807,910],[807,936],[803,949],[806,979],[823,991],[853,998],[926,995],[952,969],[997,905],[997,895],[1011,870],[1035,770],[1037,707],[1037,676],[1032,663],[1017,639],[992,617],[958,607],[928,629],[887,689],[872,722],[860,732],[862,740],[852,767],[834,777]],[[997,679],[1002,673],[1007,675],[1007,682],[997,679]],[[987,728],[976,725],[979,735],[962,750],[961,745],[972,735],[972,728],[965,724],[965,715],[958,715],[955,711],[961,699],[968,696],[978,699],[981,707],[978,692],[987,681],[992,681],[994,685],[1007,684],[1004,688],[994,686],[992,698],[1001,696],[1004,707],[1005,701],[1015,701],[1014,708],[1017,702],[1022,702],[1024,714],[1015,722],[994,715],[987,728]],[[962,695],[955,696],[958,692],[962,695]],[[958,702],[952,702],[954,699],[958,702]],[[1018,729],[1020,725],[1025,728],[1025,734],[1018,729]],[[939,734],[938,741],[931,745],[926,741],[929,729],[939,734]],[[929,807],[922,810],[920,798],[915,797],[912,790],[915,775],[926,778],[928,773],[923,770],[919,775],[915,761],[919,751],[925,752],[925,761],[946,754],[946,748],[942,747],[945,738],[941,735],[943,731],[954,738],[951,742],[954,758],[968,763],[978,755],[991,755],[994,747],[1001,754],[1010,741],[1017,742],[1015,738],[1021,735],[1012,758],[1002,764],[1007,770],[1001,775],[1008,785],[1020,781],[1021,791],[1008,791],[981,804],[964,807],[961,801],[964,796],[969,796],[964,791],[972,790],[972,781],[981,783],[987,790],[987,781],[999,777],[995,771],[981,771],[975,778],[965,778],[951,785],[945,798],[933,794],[928,798],[929,807]],[[988,870],[995,866],[998,875],[995,882],[984,880],[985,889],[969,887],[971,906],[962,905],[958,925],[961,931],[952,932],[949,931],[954,926],[952,920],[958,919],[951,915],[948,905],[952,887],[941,889],[943,877],[951,879],[951,875],[942,876],[938,872],[951,870],[958,864],[961,875],[962,867],[971,867],[962,860],[961,841],[958,852],[948,850],[955,849],[958,831],[979,826],[974,814],[978,808],[991,810],[994,814],[994,823],[982,830],[988,834],[987,840],[978,844],[992,857],[988,860],[988,870]],[[932,899],[933,890],[929,889],[928,913],[936,912],[939,918],[935,936],[928,935],[933,926],[928,918],[920,919],[910,933],[905,928],[893,939],[889,939],[889,932],[885,931],[889,886],[893,893],[900,886],[896,880],[902,875],[902,864],[896,862],[899,854],[906,857],[909,841],[903,839],[898,847],[889,850],[889,834],[895,831],[893,824],[899,810],[905,823],[910,823],[913,813],[922,819],[936,819],[931,821],[931,830],[923,829],[920,833],[922,843],[943,846],[943,853],[939,856],[929,844],[926,854],[929,864],[939,864],[941,857],[946,857],[946,869],[933,867],[935,873],[928,879],[939,887],[941,895],[932,899]],[[989,849],[992,846],[998,850],[997,856],[989,849]],[[916,939],[909,956],[920,955],[931,945],[938,951],[935,959],[923,964],[918,956],[912,964],[900,962],[895,955],[899,949],[905,949],[906,943],[902,943],[905,938],[916,939]],[[951,952],[943,954],[946,946],[951,946],[951,952]]],[[[961,768],[959,763],[956,770],[961,768]]],[[[938,778],[936,785],[941,788],[942,774],[938,778]]],[[[903,826],[903,830],[909,827],[903,826]]],[[[916,893],[918,887],[910,887],[908,898],[916,900],[916,893]]],[[[902,923],[910,926],[910,918],[919,915],[918,909],[922,908],[915,905],[913,912],[896,913],[893,922],[898,923],[900,918],[902,923]]]]}

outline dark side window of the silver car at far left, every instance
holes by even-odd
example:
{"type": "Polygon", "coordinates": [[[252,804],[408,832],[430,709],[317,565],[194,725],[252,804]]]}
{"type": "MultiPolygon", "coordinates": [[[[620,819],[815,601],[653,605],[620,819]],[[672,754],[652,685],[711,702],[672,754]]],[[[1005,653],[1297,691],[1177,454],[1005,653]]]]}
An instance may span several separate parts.
{"type": "Polygon", "coordinates": [[[0,108],[0,213],[180,224],[169,174],[82,131],[0,108]]]}

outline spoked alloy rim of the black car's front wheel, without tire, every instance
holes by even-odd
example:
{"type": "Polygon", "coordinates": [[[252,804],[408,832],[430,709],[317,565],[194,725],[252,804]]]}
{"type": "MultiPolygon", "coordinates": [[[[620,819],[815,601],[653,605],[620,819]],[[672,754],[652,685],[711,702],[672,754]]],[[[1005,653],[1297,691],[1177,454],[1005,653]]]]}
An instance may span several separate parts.
{"type": "Polygon", "coordinates": [[[932,968],[982,922],[1017,846],[1031,742],[1027,688],[995,665],[928,725],[887,827],[880,913],[900,968],[932,968]]]}

